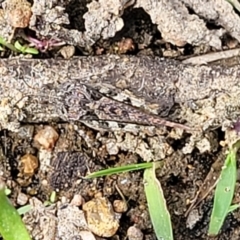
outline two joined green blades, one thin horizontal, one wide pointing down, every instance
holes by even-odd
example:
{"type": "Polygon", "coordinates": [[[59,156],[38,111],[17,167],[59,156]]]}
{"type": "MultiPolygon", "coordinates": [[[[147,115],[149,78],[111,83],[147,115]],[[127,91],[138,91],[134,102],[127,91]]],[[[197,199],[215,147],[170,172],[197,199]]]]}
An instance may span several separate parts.
{"type": "Polygon", "coordinates": [[[147,162],[139,164],[125,165],[116,168],[109,168],[94,172],[86,178],[103,177],[107,175],[144,170],[144,191],[147,198],[149,214],[153,224],[154,231],[158,240],[173,240],[172,225],[170,214],[167,209],[166,201],[160,182],[155,176],[155,169],[162,166],[162,162],[147,162]]]}

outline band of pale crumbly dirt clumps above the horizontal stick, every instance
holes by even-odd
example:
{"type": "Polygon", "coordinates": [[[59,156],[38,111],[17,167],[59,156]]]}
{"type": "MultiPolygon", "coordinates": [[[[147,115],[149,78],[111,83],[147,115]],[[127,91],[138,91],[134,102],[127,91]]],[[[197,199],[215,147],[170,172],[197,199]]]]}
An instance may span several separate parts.
{"type": "Polygon", "coordinates": [[[239,41],[240,18],[227,1],[41,0],[30,5],[27,0],[6,0],[2,7],[1,36],[44,45],[44,51],[67,44],[84,55],[141,52],[177,57],[223,45],[233,48],[239,41]]]}

